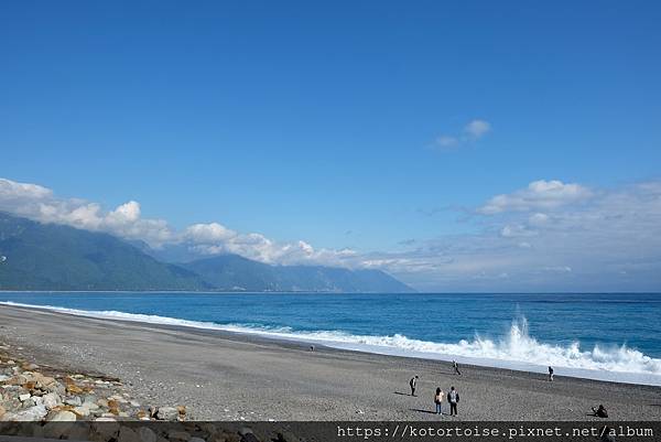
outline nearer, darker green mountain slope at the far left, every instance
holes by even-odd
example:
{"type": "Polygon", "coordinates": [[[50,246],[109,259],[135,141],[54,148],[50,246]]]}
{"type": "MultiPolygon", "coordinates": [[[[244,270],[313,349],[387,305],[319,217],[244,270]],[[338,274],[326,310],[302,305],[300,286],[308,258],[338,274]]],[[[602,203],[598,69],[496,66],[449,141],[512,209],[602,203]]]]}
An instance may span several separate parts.
{"type": "Polygon", "coordinates": [[[209,290],[113,236],[0,213],[0,290],[209,290]],[[1,258],[0,258],[1,259],[1,258]]]}

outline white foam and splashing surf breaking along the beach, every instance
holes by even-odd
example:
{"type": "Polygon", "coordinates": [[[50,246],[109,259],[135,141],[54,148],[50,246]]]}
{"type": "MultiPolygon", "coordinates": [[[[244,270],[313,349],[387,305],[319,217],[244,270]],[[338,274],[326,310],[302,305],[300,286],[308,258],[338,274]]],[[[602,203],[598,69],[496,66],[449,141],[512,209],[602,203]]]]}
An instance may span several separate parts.
{"type": "Polygon", "coordinates": [[[176,325],[261,335],[289,341],[323,344],[330,347],[369,353],[423,357],[475,365],[544,373],[549,365],[557,375],[633,384],[661,385],[661,359],[652,358],[626,345],[613,348],[595,346],[582,349],[578,342],[570,345],[541,343],[528,333],[528,323],[521,317],[512,322],[509,333],[500,339],[475,336],[458,343],[435,343],[392,336],[354,335],[339,331],[305,332],[290,327],[260,325],[216,324],[148,314],[118,311],[85,311],[53,305],[32,305],[15,302],[0,304],[52,310],[79,316],[113,319],[150,324],[176,325]]]}

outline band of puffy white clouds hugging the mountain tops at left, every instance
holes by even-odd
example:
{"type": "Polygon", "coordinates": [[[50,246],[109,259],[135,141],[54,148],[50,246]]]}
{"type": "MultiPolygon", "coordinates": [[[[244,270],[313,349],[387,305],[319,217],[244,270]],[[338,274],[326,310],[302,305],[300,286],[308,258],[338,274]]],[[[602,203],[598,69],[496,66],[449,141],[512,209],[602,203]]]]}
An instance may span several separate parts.
{"type": "Polygon", "coordinates": [[[61,198],[47,187],[0,179],[0,211],[42,223],[63,224],[91,231],[105,231],[152,248],[185,245],[199,256],[238,254],[267,263],[343,265],[351,250],[315,249],[310,244],[277,242],[261,234],[240,234],[221,224],[194,224],[177,231],[164,219],[141,216],[140,203],[129,201],[105,211],[99,204],[61,198]]]}

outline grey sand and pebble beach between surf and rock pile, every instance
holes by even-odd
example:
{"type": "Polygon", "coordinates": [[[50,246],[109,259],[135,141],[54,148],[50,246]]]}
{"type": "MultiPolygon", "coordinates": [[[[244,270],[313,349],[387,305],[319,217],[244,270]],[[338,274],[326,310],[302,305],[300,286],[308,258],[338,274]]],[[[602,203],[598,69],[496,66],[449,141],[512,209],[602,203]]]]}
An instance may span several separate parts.
{"type": "MultiPolygon", "coordinates": [[[[0,336],[52,365],[117,376],[145,402],[186,403],[207,420],[437,420],[436,385],[465,420],[659,420],[661,388],[386,356],[258,335],[0,308],[0,336]],[[408,379],[421,376],[421,394],[408,379]],[[429,396],[429,397],[427,397],[429,396]]],[[[455,419],[455,418],[453,418],[455,419]]]]}

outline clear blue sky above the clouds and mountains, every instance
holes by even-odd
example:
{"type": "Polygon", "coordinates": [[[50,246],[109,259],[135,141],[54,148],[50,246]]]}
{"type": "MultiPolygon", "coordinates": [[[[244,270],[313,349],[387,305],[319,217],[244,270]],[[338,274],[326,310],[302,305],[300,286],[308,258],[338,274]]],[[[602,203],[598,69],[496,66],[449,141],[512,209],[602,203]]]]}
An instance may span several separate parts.
{"type": "Polygon", "coordinates": [[[0,176],[136,201],[173,230],[378,255],[443,289],[442,263],[383,257],[502,233],[479,208],[533,182],[595,198],[658,182],[660,21],[651,1],[6,2],[0,176]]]}

